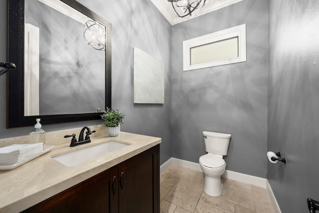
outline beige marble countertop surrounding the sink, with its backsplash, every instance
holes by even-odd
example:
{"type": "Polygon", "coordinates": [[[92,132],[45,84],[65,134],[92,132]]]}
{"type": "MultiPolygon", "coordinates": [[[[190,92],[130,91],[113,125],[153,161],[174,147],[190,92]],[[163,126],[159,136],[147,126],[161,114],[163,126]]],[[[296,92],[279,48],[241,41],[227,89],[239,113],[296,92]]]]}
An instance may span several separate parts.
{"type": "Polygon", "coordinates": [[[91,143],[69,147],[55,146],[50,152],[9,171],[0,171],[0,213],[17,213],[44,201],[104,170],[107,170],[149,148],[161,139],[126,132],[117,137],[99,136],[91,143]],[[66,167],[52,157],[107,141],[129,144],[88,162],[66,167]]]}

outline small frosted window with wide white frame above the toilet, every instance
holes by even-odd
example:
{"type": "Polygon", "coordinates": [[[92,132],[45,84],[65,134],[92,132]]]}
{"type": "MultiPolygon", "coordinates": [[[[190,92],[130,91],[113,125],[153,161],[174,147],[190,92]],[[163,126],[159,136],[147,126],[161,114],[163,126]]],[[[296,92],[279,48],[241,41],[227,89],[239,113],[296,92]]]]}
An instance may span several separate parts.
{"type": "Polygon", "coordinates": [[[183,41],[183,70],[246,61],[246,24],[183,41]]]}

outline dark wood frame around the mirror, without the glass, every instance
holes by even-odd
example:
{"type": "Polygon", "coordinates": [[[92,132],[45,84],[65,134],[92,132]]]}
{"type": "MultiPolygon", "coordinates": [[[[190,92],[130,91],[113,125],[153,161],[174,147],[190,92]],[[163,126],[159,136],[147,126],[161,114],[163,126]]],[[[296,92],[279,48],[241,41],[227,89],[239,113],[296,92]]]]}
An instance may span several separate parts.
{"type": "MultiPolygon", "coordinates": [[[[105,58],[105,107],[111,108],[111,23],[75,0],[61,0],[90,18],[103,23],[107,30],[105,58]]],[[[57,124],[101,119],[102,113],[24,116],[24,0],[7,0],[7,57],[16,69],[7,72],[7,128],[57,124]]]]}

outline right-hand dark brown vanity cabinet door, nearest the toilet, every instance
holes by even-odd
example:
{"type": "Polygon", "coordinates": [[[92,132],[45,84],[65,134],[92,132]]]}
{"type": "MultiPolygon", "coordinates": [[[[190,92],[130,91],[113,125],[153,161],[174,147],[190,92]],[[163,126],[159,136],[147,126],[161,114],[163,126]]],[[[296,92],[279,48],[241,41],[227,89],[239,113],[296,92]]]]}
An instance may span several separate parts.
{"type": "Polygon", "coordinates": [[[160,145],[119,164],[119,212],[159,213],[160,145]]]}

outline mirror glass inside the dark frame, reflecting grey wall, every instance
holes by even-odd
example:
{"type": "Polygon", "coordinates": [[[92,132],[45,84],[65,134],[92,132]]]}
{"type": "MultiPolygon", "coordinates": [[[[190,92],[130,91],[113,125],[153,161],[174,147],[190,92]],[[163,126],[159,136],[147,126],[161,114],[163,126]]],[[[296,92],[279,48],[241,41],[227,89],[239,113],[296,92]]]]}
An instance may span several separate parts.
{"type": "Polygon", "coordinates": [[[25,0],[24,22],[24,116],[103,111],[105,26],[60,0],[25,0]],[[84,39],[87,22],[100,50],[84,39]]]}

